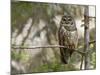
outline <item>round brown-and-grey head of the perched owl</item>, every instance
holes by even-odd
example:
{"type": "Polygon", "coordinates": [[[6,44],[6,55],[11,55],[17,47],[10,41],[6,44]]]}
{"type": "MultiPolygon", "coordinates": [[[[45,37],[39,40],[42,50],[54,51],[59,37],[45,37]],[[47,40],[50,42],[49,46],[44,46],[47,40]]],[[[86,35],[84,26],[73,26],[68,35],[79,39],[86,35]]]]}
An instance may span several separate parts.
{"type": "Polygon", "coordinates": [[[76,30],[75,21],[71,16],[64,15],[62,16],[60,25],[69,31],[76,30]]]}

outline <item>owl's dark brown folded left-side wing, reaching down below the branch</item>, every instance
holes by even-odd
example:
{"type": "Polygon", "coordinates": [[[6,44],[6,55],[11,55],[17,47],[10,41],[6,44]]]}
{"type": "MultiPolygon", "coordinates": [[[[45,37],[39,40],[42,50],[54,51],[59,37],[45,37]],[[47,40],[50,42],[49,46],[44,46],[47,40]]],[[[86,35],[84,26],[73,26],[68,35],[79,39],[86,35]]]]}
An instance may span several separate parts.
{"type": "MultiPolygon", "coordinates": [[[[58,39],[59,39],[59,45],[68,47],[68,39],[65,36],[65,32],[63,29],[60,29],[58,32],[58,39]],[[66,38],[66,39],[65,39],[66,38]],[[66,42],[66,43],[65,43],[66,42]]],[[[60,48],[60,54],[61,54],[61,62],[64,64],[68,64],[70,52],[67,48],[60,48]]]]}

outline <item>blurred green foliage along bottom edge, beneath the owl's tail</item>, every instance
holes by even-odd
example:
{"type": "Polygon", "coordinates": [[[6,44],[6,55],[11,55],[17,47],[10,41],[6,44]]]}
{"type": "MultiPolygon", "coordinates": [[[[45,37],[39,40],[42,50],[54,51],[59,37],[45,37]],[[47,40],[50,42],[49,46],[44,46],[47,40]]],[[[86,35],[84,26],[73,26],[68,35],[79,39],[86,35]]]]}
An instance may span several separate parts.
{"type": "Polygon", "coordinates": [[[44,64],[36,69],[33,69],[33,72],[58,72],[58,71],[75,71],[78,70],[72,64],[59,64],[59,63],[50,63],[44,64]]]}

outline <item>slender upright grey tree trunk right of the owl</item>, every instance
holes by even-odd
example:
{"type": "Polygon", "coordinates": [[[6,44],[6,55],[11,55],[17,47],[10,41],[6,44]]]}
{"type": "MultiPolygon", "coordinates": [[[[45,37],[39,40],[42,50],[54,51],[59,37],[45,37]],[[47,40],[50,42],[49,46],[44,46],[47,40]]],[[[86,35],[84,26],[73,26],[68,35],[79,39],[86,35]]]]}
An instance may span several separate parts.
{"type": "Polygon", "coordinates": [[[88,70],[90,69],[90,54],[89,54],[89,7],[85,6],[84,11],[84,52],[85,54],[85,60],[84,60],[84,69],[88,70]]]}

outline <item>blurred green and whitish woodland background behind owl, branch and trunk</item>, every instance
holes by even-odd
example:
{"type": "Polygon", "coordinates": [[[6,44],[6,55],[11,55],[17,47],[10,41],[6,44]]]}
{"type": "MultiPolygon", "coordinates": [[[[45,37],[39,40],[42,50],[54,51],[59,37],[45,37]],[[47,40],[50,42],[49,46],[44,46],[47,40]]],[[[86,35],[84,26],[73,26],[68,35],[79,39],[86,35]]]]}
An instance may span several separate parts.
{"type": "MultiPolygon", "coordinates": [[[[11,46],[58,45],[61,16],[70,13],[79,34],[78,48],[84,49],[82,26],[85,5],[11,2],[11,46]]],[[[95,9],[95,6],[92,6],[95,9]]],[[[91,13],[95,11],[90,10],[91,13]]],[[[95,40],[95,19],[90,19],[90,41],[95,40]]],[[[96,68],[96,46],[90,44],[91,69],[96,68]]],[[[59,48],[11,49],[11,70],[16,73],[55,72],[80,70],[81,55],[74,53],[70,64],[60,64],[59,48]]]]}

